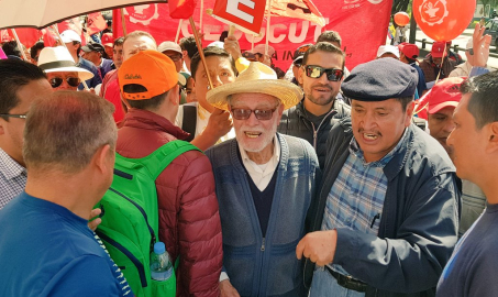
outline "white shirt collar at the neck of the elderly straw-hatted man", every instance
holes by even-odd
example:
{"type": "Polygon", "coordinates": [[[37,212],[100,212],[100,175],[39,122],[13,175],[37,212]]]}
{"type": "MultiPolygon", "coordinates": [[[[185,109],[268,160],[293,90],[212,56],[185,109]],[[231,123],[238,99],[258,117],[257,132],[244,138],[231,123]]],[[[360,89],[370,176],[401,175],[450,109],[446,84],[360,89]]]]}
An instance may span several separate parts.
{"type": "Polygon", "coordinates": [[[247,156],[247,152],[239,144],[239,151],[241,152],[242,164],[253,179],[254,185],[263,191],[268,186],[269,180],[275,173],[275,169],[280,162],[280,143],[277,136],[274,136],[274,154],[272,158],[265,164],[256,164],[247,156]]]}

